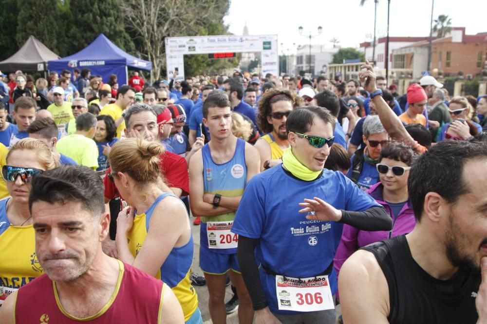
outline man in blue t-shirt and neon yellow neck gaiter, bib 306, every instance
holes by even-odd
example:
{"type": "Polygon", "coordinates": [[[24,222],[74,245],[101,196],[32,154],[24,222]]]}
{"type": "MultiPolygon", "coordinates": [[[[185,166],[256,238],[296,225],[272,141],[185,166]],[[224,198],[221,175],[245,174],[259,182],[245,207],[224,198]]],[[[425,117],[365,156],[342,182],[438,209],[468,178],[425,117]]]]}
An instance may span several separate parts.
{"type": "Polygon", "coordinates": [[[257,174],[245,188],[232,232],[239,235],[239,264],[256,324],[334,324],[333,257],[343,223],[392,226],[372,197],[343,173],[324,169],[334,125],[321,107],[293,110],[282,165],[257,174]]]}

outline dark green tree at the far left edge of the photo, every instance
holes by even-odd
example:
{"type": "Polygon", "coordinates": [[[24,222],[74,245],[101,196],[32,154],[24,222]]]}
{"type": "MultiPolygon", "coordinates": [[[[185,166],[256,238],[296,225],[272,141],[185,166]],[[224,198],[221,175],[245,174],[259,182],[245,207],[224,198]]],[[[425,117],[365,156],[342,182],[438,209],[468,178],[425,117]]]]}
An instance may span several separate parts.
{"type": "Polygon", "coordinates": [[[17,46],[17,13],[18,0],[0,0],[0,61],[10,57],[17,46]]]}

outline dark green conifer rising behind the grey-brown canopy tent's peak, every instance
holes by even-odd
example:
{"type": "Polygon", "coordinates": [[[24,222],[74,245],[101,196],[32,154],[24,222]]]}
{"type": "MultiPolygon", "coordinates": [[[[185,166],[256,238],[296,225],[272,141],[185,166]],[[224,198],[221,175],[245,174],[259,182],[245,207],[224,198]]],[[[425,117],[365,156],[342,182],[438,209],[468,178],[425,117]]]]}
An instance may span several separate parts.
{"type": "Polygon", "coordinates": [[[22,46],[30,35],[34,35],[51,51],[59,54],[59,34],[61,34],[59,30],[59,4],[59,0],[19,1],[17,45],[22,46]]]}

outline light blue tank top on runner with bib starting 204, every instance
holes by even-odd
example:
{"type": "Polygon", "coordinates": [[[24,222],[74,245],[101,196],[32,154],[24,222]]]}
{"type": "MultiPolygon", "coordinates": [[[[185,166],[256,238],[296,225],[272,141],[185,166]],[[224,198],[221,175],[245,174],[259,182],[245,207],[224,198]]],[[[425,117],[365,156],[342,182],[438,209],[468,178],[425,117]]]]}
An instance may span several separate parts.
{"type": "MultiPolygon", "coordinates": [[[[203,185],[204,193],[219,193],[226,197],[242,196],[247,182],[247,166],[245,164],[245,141],[237,138],[235,153],[230,161],[217,164],[211,157],[208,144],[203,146],[203,185]]],[[[225,213],[218,216],[201,217],[201,221],[225,222],[233,221],[235,212],[225,213]]],[[[200,227],[201,245],[208,247],[206,225],[200,227]]],[[[215,249],[216,253],[233,254],[237,249],[215,249]]]]}

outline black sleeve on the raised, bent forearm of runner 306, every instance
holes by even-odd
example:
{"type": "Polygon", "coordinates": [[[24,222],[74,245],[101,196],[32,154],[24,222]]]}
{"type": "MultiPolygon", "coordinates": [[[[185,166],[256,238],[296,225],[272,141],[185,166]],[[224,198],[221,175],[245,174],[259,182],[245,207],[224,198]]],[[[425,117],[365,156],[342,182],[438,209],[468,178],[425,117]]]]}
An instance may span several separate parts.
{"type": "Polygon", "coordinates": [[[363,231],[390,231],[393,228],[393,220],[382,207],[371,207],[364,211],[342,210],[341,213],[340,223],[363,231]]]}

